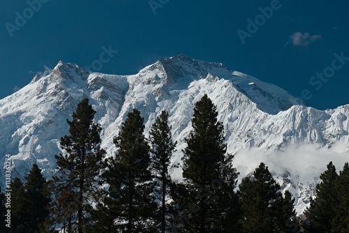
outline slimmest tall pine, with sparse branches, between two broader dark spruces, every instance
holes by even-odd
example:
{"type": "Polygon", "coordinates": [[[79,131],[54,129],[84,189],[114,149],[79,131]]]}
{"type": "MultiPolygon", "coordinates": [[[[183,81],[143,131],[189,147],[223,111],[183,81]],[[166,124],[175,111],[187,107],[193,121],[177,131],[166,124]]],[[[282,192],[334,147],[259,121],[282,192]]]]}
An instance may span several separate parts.
{"type": "Polygon", "coordinates": [[[172,186],[168,169],[170,158],[177,144],[177,142],[172,142],[171,127],[168,125],[168,112],[161,112],[149,134],[151,153],[154,154],[151,159],[150,170],[154,172],[156,178],[156,198],[161,202],[161,232],[165,233],[168,225],[166,217],[169,213],[166,202],[172,186]]]}

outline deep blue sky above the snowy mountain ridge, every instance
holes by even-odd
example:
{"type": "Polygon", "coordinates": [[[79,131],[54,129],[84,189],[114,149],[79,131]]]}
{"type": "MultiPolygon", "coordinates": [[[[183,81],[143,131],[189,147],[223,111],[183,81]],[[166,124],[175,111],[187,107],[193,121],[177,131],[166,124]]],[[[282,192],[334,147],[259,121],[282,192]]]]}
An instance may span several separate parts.
{"type": "Polygon", "coordinates": [[[1,5],[0,98],[59,60],[127,75],[161,57],[186,54],[272,82],[318,109],[349,103],[348,0],[3,0],[1,5]],[[118,52],[103,56],[102,63],[109,48],[118,52]]]}

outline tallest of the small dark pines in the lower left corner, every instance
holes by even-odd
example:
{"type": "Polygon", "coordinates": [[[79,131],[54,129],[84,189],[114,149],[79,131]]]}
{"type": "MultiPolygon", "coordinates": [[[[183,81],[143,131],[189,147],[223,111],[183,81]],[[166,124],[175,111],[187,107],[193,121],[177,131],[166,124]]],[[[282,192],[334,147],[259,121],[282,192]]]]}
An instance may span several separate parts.
{"type": "Polygon", "coordinates": [[[50,203],[50,194],[45,187],[46,180],[41,174],[41,170],[35,163],[28,176],[26,176],[27,198],[29,201],[29,229],[28,232],[39,232],[39,226],[48,217],[47,205],[50,203]]]}

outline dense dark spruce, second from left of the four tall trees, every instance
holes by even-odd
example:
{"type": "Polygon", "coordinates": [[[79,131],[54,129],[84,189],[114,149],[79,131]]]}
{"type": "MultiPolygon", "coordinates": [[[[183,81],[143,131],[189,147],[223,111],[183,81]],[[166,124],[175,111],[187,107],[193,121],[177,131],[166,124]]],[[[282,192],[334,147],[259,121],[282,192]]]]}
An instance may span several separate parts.
{"type": "MultiPolygon", "coordinates": [[[[115,232],[154,232],[156,202],[152,195],[153,176],[149,171],[149,145],[144,137],[144,123],[140,111],[133,110],[122,123],[114,144],[118,153],[110,158],[103,175],[110,184],[104,200],[105,212],[114,225],[100,227],[115,232]]],[[[110,223],[110,220],[107,220],[110,223]]]]}

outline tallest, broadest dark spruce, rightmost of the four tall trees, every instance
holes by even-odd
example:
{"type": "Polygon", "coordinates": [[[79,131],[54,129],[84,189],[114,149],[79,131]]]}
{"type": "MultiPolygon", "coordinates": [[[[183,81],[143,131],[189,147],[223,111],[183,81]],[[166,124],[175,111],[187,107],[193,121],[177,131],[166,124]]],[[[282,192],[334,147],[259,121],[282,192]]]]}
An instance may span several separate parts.
{"type": "Polygon", "coordinates": [[[206,94],[195,104],[193,130],[185,139],[184,183],[172,193],[179,209],[179,232],[237,232],[237,172],[226,153],[217,115],[206,94]]]}

